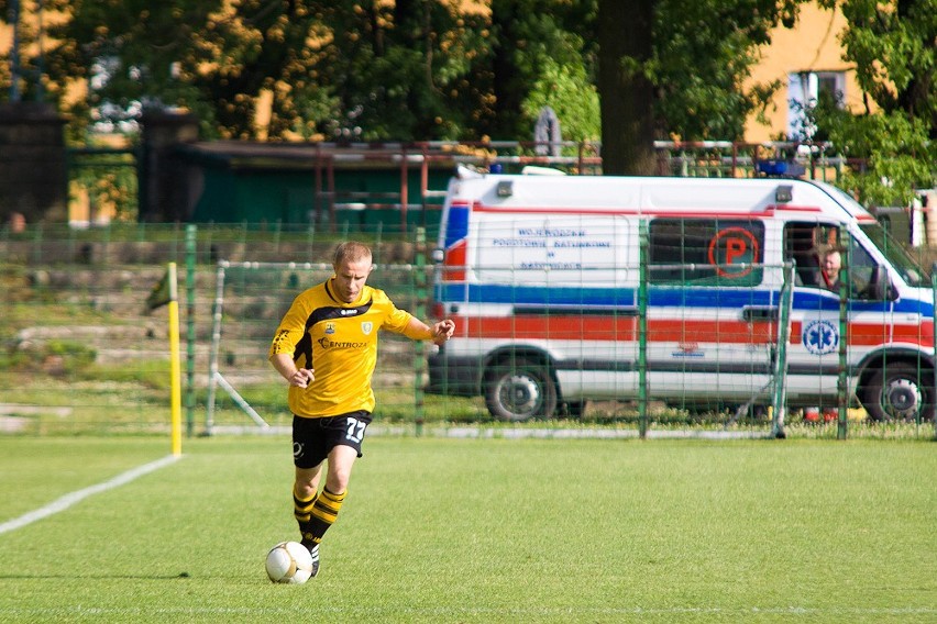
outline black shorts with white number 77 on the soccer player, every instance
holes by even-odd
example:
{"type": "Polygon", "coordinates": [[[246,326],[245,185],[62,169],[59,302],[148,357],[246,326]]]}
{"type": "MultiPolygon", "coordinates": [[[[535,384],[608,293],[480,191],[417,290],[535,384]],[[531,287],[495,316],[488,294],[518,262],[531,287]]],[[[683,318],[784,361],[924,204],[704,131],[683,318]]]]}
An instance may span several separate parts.
{"type": "Polygon", "coordinates": [[[361,443],[368,424],[371,412],[364,410],[321,419],[294,415],[293,464],[297,468],[315,468],[337,446],[351,446],[361,457],[361,443]]]}

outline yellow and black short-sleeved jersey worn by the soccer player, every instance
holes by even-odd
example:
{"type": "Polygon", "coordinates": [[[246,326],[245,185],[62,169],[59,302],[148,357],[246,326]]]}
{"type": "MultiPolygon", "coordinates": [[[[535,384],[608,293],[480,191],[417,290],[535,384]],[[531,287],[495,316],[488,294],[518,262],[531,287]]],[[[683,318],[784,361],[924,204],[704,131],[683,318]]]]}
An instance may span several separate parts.
{"type": "Polygon", "coordinates": [[[357,301],[337,300],[326,281],[301,292],[277,327],[271,357],[290,354],[298,368],[311,368],[308,388],[289,387],[297,416],[334,416],[374,411],[371,376],[377,364],[377,332],[399,334],[410,323],[383,290],[365,286],[357,301]]]}

